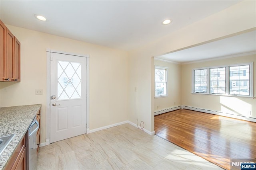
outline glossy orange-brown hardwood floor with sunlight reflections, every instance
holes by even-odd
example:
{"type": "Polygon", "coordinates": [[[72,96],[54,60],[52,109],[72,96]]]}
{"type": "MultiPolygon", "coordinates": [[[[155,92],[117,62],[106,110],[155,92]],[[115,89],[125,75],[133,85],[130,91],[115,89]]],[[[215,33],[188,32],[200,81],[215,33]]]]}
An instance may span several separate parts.
{"type": "Polygon", "coordinates": [[[256,123],[179,109],[154,119],[156,135],[218,166],[256,159],[256,123]]]}

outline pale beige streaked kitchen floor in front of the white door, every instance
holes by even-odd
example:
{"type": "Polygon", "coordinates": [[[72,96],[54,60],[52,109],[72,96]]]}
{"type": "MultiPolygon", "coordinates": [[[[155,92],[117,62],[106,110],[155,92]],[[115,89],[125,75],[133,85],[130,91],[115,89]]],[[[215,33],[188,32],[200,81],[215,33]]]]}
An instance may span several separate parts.
{"type": "Polygon", "coordinates": [[[220,170],[128,123],[40,147],[38,170],[220,170]]]}

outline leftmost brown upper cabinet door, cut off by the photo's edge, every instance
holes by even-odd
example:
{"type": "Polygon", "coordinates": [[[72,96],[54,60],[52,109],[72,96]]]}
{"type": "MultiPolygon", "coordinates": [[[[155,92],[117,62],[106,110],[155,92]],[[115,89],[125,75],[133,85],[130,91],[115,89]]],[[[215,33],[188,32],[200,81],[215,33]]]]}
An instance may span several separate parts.
{"type": "Polygon", "coordinates": [[[6,29],[0,20],[0,81],[6,78],[6,29]]]}

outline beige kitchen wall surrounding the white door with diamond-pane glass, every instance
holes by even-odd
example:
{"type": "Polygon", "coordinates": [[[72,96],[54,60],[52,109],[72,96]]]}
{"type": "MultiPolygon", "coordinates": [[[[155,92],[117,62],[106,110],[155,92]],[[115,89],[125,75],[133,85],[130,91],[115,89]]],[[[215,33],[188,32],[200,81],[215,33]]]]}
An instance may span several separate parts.
{"type": "Polygon", "coordinates": [[[90,130],[128,119],[127,52],[6,26],[21,43],[21,82],[0,82],[0,105],[42,104],[41,142],[46,141],[46,48],[90,55],[90,130]]]}

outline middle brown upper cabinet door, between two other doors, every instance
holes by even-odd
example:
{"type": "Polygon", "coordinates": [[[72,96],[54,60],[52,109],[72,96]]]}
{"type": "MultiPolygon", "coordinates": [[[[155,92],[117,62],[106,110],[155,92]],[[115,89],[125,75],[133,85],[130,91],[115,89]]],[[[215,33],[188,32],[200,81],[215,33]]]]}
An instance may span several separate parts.
{"type": "Polygon", "coordinates": [[[7,81],[12,81],[14,79],[14,35],[7,29],[7,37],[6,37],[6,66],[7,72],[6,77],[8,78],[7,81]]]}

